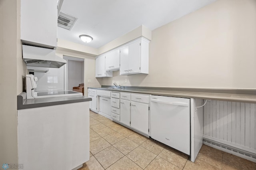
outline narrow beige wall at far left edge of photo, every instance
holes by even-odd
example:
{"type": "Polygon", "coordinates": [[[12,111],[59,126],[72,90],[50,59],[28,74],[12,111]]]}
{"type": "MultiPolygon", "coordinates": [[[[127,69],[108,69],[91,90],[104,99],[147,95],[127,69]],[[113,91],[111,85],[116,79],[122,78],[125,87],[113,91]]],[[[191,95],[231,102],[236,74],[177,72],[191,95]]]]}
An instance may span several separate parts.
{"type": "Polygon", "coordinates": [[[17,94],[22,92],[20,0],[0,0],[0,165],[18,163],[17,94]]]}

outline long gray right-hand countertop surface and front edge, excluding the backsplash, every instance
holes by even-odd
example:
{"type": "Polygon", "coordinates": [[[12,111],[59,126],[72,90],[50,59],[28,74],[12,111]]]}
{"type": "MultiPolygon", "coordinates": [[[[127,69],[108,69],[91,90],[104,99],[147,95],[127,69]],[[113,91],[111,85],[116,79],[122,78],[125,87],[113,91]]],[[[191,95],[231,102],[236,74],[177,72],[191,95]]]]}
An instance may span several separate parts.
{"type": "MultiPolygon", "coordinates": [[[[210,99],[219,101],[232,101],[232,102],[242,102],[242,103],[256,103],[256,95],[248,94],[234,94],[234,93],[210,93],[210,92],[198,92],[198,91],[173,91],[173,90],[156,90],[156,89],[108,89],[107,87],[88,87],[91,89],[99,90],[110,90],[119,92],[129,92],[129,93],[141,93],[149,95],[161,95],[169,97],[184,97],[184,98],[194,98],[194,99],[210,99]]],[[[138,87],[139,88],[139,87],[138,87]]],[[[180,90],[181,88],[179,88],[180,90]]]]}

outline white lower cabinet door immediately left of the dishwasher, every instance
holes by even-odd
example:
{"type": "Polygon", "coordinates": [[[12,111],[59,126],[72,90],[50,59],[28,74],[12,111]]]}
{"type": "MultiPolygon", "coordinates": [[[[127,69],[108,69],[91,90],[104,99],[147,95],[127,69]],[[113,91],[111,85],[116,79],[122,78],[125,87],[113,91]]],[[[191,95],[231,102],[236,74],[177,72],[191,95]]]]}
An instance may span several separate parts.
{"type": "Polygon", "coordinates": [[[131,102],[131,127],[148,134],[148,104],[131,102]]]}

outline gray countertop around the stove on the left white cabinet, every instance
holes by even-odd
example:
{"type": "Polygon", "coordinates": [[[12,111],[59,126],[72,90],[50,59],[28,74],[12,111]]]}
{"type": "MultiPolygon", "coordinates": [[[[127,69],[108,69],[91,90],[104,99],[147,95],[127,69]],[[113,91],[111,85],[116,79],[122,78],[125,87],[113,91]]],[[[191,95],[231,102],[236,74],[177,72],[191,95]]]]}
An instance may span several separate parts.
{"type": "Polygon", "coordinates": [[[39,99],[26,99],[26,93],[22,92],[17,95],[17,109],[31,109],[37,107],[46,107],[54,105],[64,105],[69,103],[79,103],[85,101],[92,101],[92,98],[84,97],[82,95],[65,96],[65,97],[47,97],[39,99]]]}

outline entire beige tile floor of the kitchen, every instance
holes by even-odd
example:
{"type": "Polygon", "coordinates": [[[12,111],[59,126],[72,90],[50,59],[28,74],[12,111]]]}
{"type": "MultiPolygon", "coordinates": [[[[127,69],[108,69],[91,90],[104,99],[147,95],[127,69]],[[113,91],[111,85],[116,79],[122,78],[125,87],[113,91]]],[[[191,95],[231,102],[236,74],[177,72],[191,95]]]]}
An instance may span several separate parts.
{"type": "Polygon", "coordinates": [[[256,163],[203,145],[196,161],[90,111],[90,160],[79,170],[256,170],[256,163]]]}

